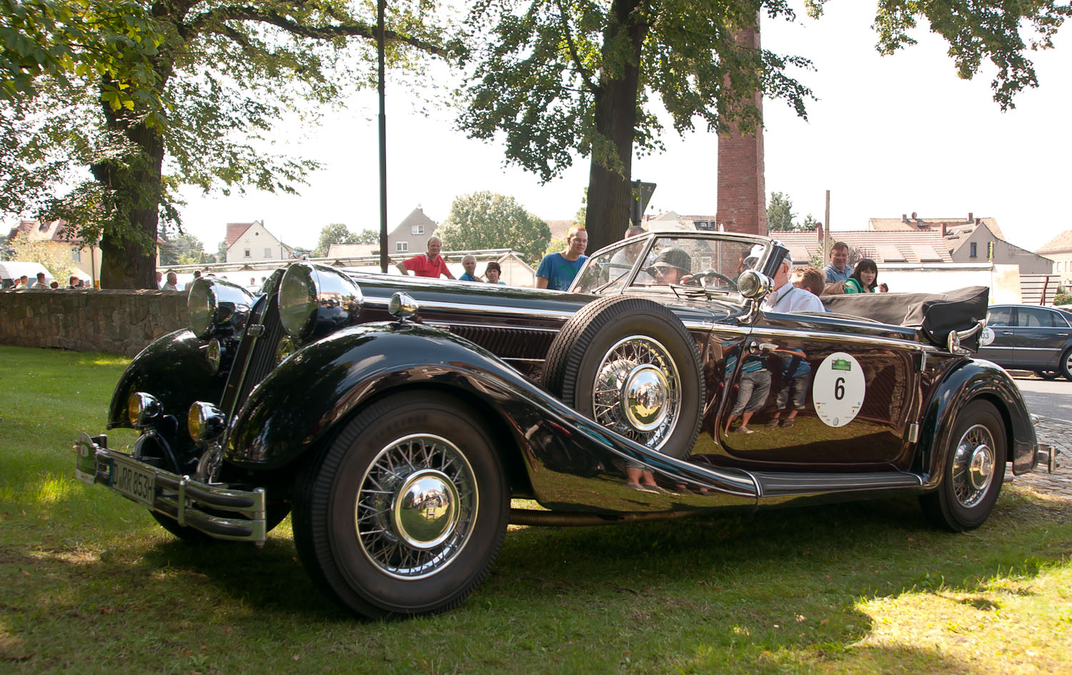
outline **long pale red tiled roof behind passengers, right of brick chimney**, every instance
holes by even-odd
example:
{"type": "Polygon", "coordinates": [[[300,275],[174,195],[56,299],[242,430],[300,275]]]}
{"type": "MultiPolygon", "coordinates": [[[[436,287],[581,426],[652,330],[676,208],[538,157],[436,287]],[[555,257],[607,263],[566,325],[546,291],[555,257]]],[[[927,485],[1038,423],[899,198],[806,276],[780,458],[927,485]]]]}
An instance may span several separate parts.
{"type": "MultiPolygon", "coordinates": [[[[772,231],[771,237],[789,248],[789,255],[794,265],[806,265],[813,256],[822,257],[822,242],[817,231],[786,232],[772,231]]],[[[941,237],[941,230],[924,231],[832,231],[831,241],[844,241],[849,249],[857,249],[865,258],[883,262],[919,264],[920,254],[924,257],[940,258],[942,262],[952,262],[950,246],[941,237]],[[894,259],[894,256],[899,259],[894,259]]],[[[933,260],[937,262],[938,260],[933,260]]],[[[823,265],[829,260],[823,260],[823,265]]]]}

